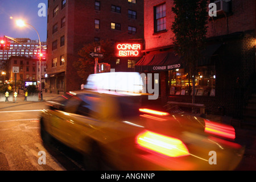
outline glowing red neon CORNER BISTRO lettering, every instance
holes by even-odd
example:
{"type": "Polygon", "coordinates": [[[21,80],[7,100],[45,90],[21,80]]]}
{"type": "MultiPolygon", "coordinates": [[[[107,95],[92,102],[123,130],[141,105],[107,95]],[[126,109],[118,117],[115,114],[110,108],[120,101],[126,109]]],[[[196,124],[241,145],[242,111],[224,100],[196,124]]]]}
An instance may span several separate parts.
{"type": "Polygon", "coordinates": [[[117,44],[118,56],[140,56],[141,44],[117,44]]]}

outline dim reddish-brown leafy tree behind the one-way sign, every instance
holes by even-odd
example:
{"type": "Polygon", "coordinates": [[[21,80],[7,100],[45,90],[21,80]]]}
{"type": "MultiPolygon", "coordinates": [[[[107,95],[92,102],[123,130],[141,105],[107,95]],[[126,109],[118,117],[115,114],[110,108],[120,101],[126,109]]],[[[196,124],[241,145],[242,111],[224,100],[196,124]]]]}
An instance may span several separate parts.
{"type": "Polygon", "coordinates": [[[80,56],[79,60],[75,61],[73,64],[77,69],[77,74],[86,81],[87,77],[94,73],[94,64],[95,60],[93,57],[89,56],[90,52],[94,52],[94,48],[101,46],[101,52],[104,53],[104,59],[99,59],[99,62],[113,60],[114,57],[114,45],[110,40],[101,40],[100,42],[92,42],[85,44],[85,46],[80,49],[78,55],[80,56]]]}

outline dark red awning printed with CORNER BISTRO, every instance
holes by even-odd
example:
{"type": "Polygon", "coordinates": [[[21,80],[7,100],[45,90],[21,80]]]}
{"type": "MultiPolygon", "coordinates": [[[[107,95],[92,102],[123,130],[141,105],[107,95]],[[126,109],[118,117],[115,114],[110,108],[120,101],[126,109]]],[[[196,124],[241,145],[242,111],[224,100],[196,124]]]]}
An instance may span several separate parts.
{"type": "Polygon", "coordinates": [[[168,71],[181,68],[181,60],[172,52],[150,53],[135,65],[135,71],[168,71]]]}

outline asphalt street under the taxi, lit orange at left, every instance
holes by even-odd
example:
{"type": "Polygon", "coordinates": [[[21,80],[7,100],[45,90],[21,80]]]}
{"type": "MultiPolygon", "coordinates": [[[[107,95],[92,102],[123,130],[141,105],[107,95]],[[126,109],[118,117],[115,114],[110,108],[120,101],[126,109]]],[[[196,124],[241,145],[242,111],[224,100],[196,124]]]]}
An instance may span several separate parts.
{"type": "MultiPolygon", "coordinates": [[[[60,96],[44,98],[56,100],[60,96]]],[[[46,101],[28,102],[21,98],[15,103],[0,102],[0,171],[86,171],[77,152],[58,142],[43,144],[38,118],[44,108],[46,101]],[[42,164],[44,159],[46,164],[42,164]]],[[[238,142],[246,146],[246,151],[236,170],[256,170],[255,136],[241,130],[238,142]]]]}

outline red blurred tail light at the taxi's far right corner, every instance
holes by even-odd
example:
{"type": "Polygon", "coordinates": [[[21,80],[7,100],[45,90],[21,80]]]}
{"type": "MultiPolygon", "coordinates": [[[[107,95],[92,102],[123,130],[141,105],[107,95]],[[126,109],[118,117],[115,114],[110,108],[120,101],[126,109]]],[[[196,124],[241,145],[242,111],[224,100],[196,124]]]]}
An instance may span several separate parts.
{"type": "Polygon", "coordinates": [[[218,135],[219,137],[224,137],[229,139],[236,138],[236,132],[233,126],[224,125],[222,123],[217,123],[217,122],[212,122],[207,120],[204,120],[204,122],[205,122],[204,131],[206,133],[218,135]]]}

